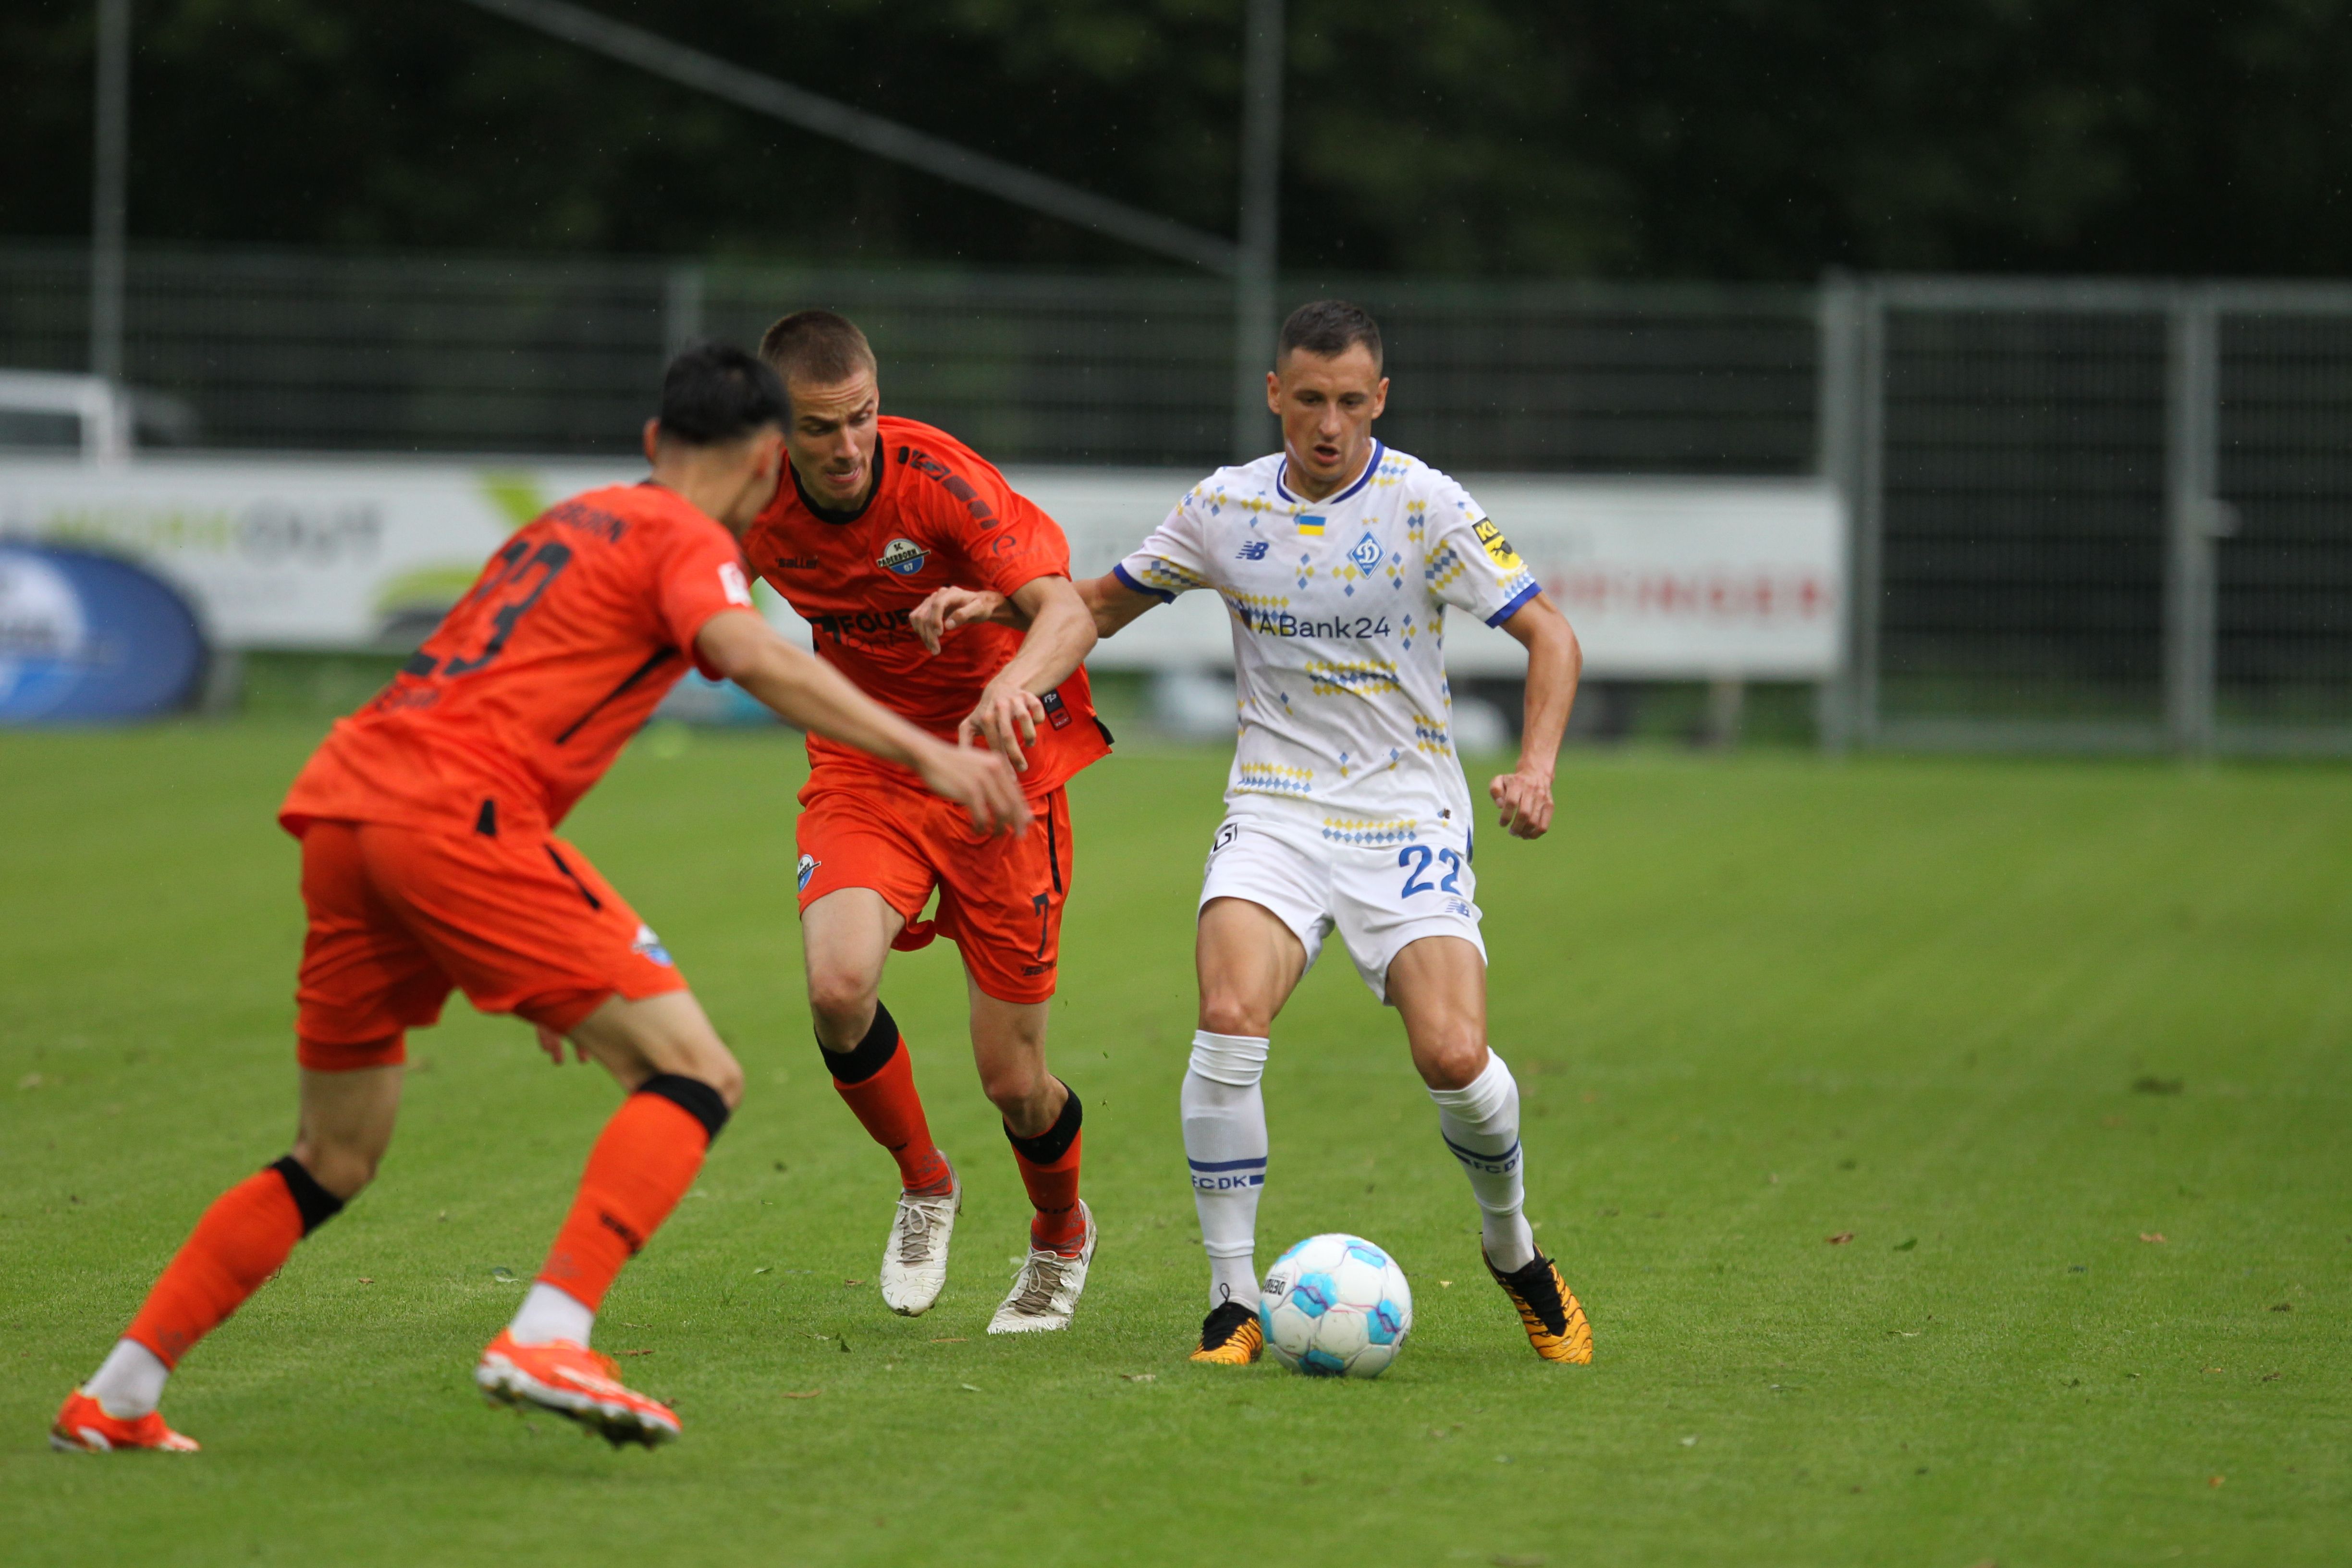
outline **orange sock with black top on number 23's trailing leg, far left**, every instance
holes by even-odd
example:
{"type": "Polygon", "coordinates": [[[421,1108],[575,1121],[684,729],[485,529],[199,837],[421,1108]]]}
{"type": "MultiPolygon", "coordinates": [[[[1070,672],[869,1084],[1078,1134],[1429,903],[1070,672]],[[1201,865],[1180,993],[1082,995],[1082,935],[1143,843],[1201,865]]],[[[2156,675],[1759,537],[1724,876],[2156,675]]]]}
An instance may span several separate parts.
{"type": "Polygon", "coordinates": [[[195,1222],[122,1338],[146,1345],[165,1366],[179,1366],[198,1340],[268,1284],[296,1241],[341,1208],[343,1201],[292,1154],[247,1175],[195,1222]]]}

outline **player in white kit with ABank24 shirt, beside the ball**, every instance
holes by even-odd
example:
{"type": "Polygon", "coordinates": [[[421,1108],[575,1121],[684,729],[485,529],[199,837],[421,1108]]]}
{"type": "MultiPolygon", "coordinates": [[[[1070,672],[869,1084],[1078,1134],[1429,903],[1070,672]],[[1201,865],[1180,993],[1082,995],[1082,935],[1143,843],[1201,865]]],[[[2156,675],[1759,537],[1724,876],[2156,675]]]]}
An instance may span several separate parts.
{"type": "MultiPolygon", "coordinates": [[[[1404,1018],[1437,1128],[1482,1213],[1486,1269],[1545,1361],[1590,1361],[1592,1328],[1522,1213],[1519,1088],[1486,1046],[1486,945],[1472,804],[1454,755],[1446,611],[1526,646],[1519,766],[1489,783],[1522,839],[1552,823],[1552,766],[1581,654],[1461,484],[1381,444],[1381,329],[1317,301],[1282,327],[1268,407],[1282,451],[1221,468],[1110,576],[1080,583],[1096,628],[1195,588],[1230,611],[1240,743],[1200,891],[1200,1032],[1183,1140],[1209,1253],[1195,1361],[1247,1363],[1258,1328],[1256,1215],[1275,1016],[1334,933],[1404,1018]]],[[[927,644],[997,597],[948,588],[915,611],[927,644]]]]}

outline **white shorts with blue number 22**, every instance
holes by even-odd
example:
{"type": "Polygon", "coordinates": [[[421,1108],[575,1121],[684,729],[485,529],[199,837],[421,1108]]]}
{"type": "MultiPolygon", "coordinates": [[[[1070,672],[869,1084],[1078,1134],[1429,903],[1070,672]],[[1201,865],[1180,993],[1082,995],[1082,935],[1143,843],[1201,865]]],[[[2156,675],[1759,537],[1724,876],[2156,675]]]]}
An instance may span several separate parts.
{"type": "Polygon", "coordinates": [[[1305,945],[1310,969],[1338,931],[1355,973],[1381,1001],[1390,961],[1423,936],[1458,936],[1486,957],[1468,823],[1334,830],[1312,806],[1228,806],[1200,879],[1202,905],[1211,898],[1272,910],[1305,945]]]}

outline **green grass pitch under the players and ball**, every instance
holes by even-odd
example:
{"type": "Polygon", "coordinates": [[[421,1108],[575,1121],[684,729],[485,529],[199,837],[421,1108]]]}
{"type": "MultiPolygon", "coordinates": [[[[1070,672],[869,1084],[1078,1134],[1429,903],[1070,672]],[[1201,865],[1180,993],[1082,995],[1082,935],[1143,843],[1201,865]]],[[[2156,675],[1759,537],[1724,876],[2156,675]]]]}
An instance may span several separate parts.
{"type": "Polygon", "coordinates": [[[572,837],[750,1072],[600,1326],[684,1441],[473,1396],[614,1091],[456,1004],[383,1180],[174,1380],[205,1453],[52,1455],[202,1204],[287,1147],[270,813],[313,738],[0,741],[0,1561],[2352,1559],[2352,790],[2324,769],[1571,757],[1550,839],[1482,835],[1479,896],[1529,1211],[1599,1359],[1529,1354],[1395,1018],[1334,959],[1277,1025],[1258,1255],[1357,1229],[1418,1307],[1385,1380],[1334,1385],[1183,1359],[1223,757],[1134,750],[1073,792],[1054,1060],[1103,1246],[1070,1333],[990,1342],[1023,1204],[953,952],[884,990],[969,1182],[948,1293],[894,1319],[891,1168],[802,1013],[797,748],[640,745],[572,837]]]}

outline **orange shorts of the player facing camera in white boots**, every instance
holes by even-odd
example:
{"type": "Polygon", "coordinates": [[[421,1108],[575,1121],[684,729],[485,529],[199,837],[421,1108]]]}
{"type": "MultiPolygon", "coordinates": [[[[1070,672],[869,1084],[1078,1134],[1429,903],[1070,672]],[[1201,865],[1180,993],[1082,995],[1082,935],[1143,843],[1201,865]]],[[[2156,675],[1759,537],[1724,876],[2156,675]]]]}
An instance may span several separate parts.
{"type": "Polygon", "coordinates": [[[873,889],[908,926],[896,947],[946,936],[971,983],[997,1001],[1044,1001],[1061,961],[1070,893],[1070,799],[1030,802],[1021,837],[974,832],[971,816],[927,790],[858,778],[811,778],[800,790],[800,907],[826,893],[873,889]],[[938,889],[938,914],[917,919],[938,889]]]}

